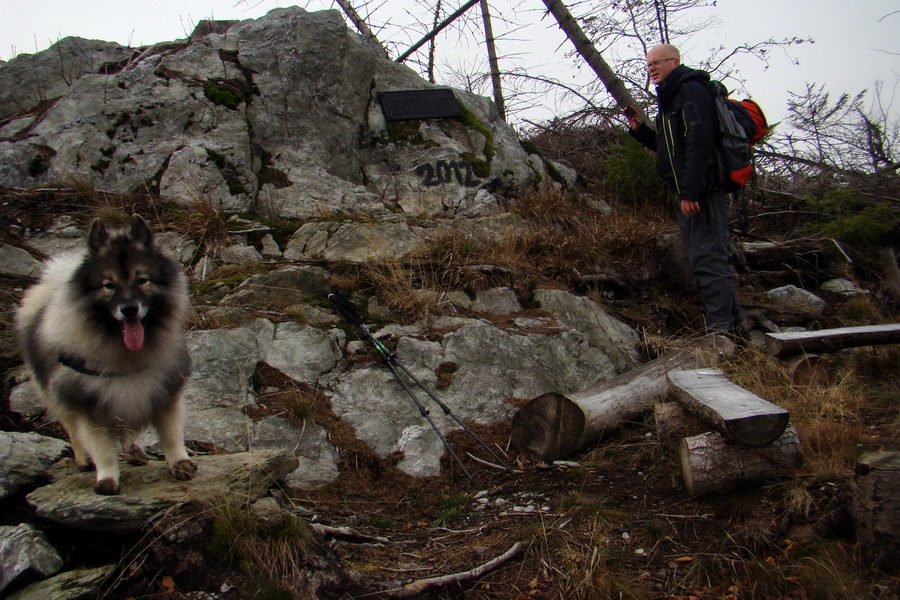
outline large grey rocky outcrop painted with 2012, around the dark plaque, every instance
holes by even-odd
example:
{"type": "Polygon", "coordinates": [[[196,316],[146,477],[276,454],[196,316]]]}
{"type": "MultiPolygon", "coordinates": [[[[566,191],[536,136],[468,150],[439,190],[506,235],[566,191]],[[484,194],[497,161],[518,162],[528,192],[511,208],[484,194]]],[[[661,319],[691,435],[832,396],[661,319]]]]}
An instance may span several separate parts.
{"type": "Polygon", "coordinates": [[[380,92],[434,86],[338,11],[212,25],[147,48],[66,38],[0,65],[0,185],[306,219],[496,214],[498,194],[549,181],[483,97],[453,90],[462,118],[387,121],[380,92]]]}

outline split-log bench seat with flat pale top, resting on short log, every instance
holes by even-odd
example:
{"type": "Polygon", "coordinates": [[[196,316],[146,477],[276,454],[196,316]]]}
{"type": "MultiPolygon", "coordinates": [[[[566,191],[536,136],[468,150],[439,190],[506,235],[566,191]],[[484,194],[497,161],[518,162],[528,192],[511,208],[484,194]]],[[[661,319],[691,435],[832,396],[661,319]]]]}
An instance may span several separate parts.
{"type": "Polygon", "coordinates": [[[672,371],[668,379],[672,396],[688,412],[735,443],[765,446],[787,427],[788,411],[732,383],[719,369],[672,371]]]}

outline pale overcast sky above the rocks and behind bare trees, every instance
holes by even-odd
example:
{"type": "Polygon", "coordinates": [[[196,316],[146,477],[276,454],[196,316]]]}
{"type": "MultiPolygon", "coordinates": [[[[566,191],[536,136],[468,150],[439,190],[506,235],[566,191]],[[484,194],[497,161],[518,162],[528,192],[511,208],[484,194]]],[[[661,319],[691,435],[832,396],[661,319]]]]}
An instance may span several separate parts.
{"type": "MultiPolygon", "coordinates": [[[[455,9],[462,3],[462,0],[445,1],[444,5],[455,9]]],[[[278,0],[0,0],[0,15],[3,15],[0,59],[44,50],[70,35],[130,46],[169,41],[186,37],[202,19],[257,18],[273,8],[291,4],[278,0]]],[[[364,3],[353,4],[366,14],[364,3]]],[[[576,6],[574,2],[567,4],[576,6]]],[[[308,10],[336,7],[329,0],[308,0],[299,5],[308,10]]],[[[420,27],[405,30],[400,27],[430,20],[422,16],[424,9],[415,0],[372,0],[369,5],[375,11],[370,23],[377,26],[390,22],[391,31],[376,30],[382,41],[391,39],[405,44],[416,41],[421,36],[420,27]],[[395,7],[407,8],[389,19],[387,11],[395,7]]],[[[527,68],[530,75],[552,75],[564,82],[566,78],[574,82],[593,77],[579,61],[564,56],[571,50],[571,44],[552,17],[543,15],[540,0],[491,0],[491,7],[495,13],[498,52],[505,62],[501,64],[502,69],[527,68]],[[507,31],[503,17],[506,21],[530,25],[507,31]],[[577,72],[573,65],[581,66],[582,71],[577,72]]],[[[573,8],[574,12],[577,10],[573,8]]],[[[900,112],[900,2],[897,0],[718,0],[715,7],[696,12],[698,18],[705,14],[715,15],[721,23],[706,29],[689,47],[682,48],[688,65],[704,58],[708,49],[719,43],[735,46],[770,37],[795,36],[815,40],[814,44],[791,48],[790,56],[776,51],[765,70],[758,61],[738,62],[748,80],[747,89],[763,104],[770,120],[784,117],[788,92],[802,92],[807,82],[824,84],[833,95],[838,95],[872,89],[874,82],[880,80],[886,87],[885,101],[897,97],[892,113],[900,112]]],[[[475,37],[474,33],[471,35],[475,37]]],[[[481,53],[480,40],[456,38],[439,40],[439,52],[444,49],[449,53],[456,44],[460,45],[464,58],[446,59],[451,64],[481,53]]],[[[535,118],[549,118],[564,110],[554,105],[551,97],[546,99],[546,105],[547,111],[535,118]]]]}

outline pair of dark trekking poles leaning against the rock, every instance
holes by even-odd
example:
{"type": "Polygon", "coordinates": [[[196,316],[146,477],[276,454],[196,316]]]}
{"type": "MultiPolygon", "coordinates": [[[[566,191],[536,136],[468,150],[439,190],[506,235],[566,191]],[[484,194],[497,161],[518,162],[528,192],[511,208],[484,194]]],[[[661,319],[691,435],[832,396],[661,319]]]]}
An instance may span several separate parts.
{"type": "Polygon", "coordinates": [[[403,386],[403,389],[406,390],[406,393],[412,399],[413,403],[416,405],[416,408],[419,409],[419,413],[423,417],[425,417],[425,420],[428,421],[429,425],[431,425],[431,428],[434,430],[434,432],[440,438],[441,443],[444,444],[444,447],[450,453],[450,456],[453,457],[453,460],[456,461],[456,464],[458,464],[460,469],[462,469],[463,473],[466,474],[466,477],[468,477],[468,479],[472,485],[474,485],[474,486],[478,485],[478,482],[475,480],[475,477],[472,475],[472,473],[469,472],[469,470],[463,464],[462,460],[459,458],[459,455],[457,455],[457,453],[453,450],[453,447],[450,446],[450,443],[447,441],[447,438],[444,437],[444,434],[442,434],[440,432],[437,425],[434,423],[434,420],[432,420],[428,409],[425,407],[424,404],[422,404],[422,401],[419,399],[419,397],[416,396],[416,393],[410,387],[410,384],[406,381],[406,379],[404,379],[403,376],[401,376],[400,371],[402,371],[406,375],[406,377],[408,377],[413,383],[415,383],[419,388],[421,388],[428,395],[428,397],[431,398],[441,408],[442,411],[444,411],[445,415],[451,417],[454,421],[456,421],[465,430],[465,432],[468,433],[472,437],[473,440],[478,442],[478,444],[482,448],[487,450],[488,453],[490,453],[490,455],[494,458],[494,460],[497,461],[499,466],[501,466],[506,472],[508,472],[513,477],[516,477],[516,474],[509,467],[509,465],[507,465],[503,461],[503,459],[497,455],[496,452],[491,450],[491,448],[484,442],[484,440],[482,440],[480,437],[478,437],[478,435],[474,431],[472,431],[468,425],[466,425],[461,420],[459,420],[459,418],[457,418],[457,416],[454,415],[453,412],[450,410],[450,407],[448,407],[446,404],[441,402],[433,393],[431,393],[431,390],[429,390],[427,387],[425,387],[425,385],[421,381],[419,381],[415,375],[410,373],[409,369],[404,367],[403,364],[401,364],[397,360],[397,357],[394,355],[394,353],[387,346],[385,346],[381,342],[381,340],[377,339],[372,334],[372,332],[369,330],[369,328],[363,322],[362,317],[360,317],[359,313],[356,311],[356,307],[354,306],[353,302],[350,300],[350,298],[347,297],[347,295],[343,292],[343,290],[340,290],[340,289],[334,290],[334,291],[326,294],[326,297],[331,301],[331,303],[334,305],[334,307],[337,308],[338,312],[340,312],[341,315],[348,322],[350,322],[352,325],[356,326],[356,328],[359,329],[375,345],[375,349],[378,350],[378,354],[381,356],[382,360],[384,360],[385,364],[391,370],[391,373],[394,374],[394,377],[397,379],[397,381],[400,382],[400,385],[403,386]]]}

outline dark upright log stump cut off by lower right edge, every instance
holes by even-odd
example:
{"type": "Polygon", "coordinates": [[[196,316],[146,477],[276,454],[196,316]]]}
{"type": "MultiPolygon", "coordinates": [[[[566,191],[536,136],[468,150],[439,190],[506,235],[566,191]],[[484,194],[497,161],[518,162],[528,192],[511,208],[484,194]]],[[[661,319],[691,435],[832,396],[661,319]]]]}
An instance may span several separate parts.
{"type": "Polygon", "coordinates": [[[875,568],[898,569],[900,559],[900,452],[859,459],[850,482],[850,512],[864,559],[875,568]]]}

